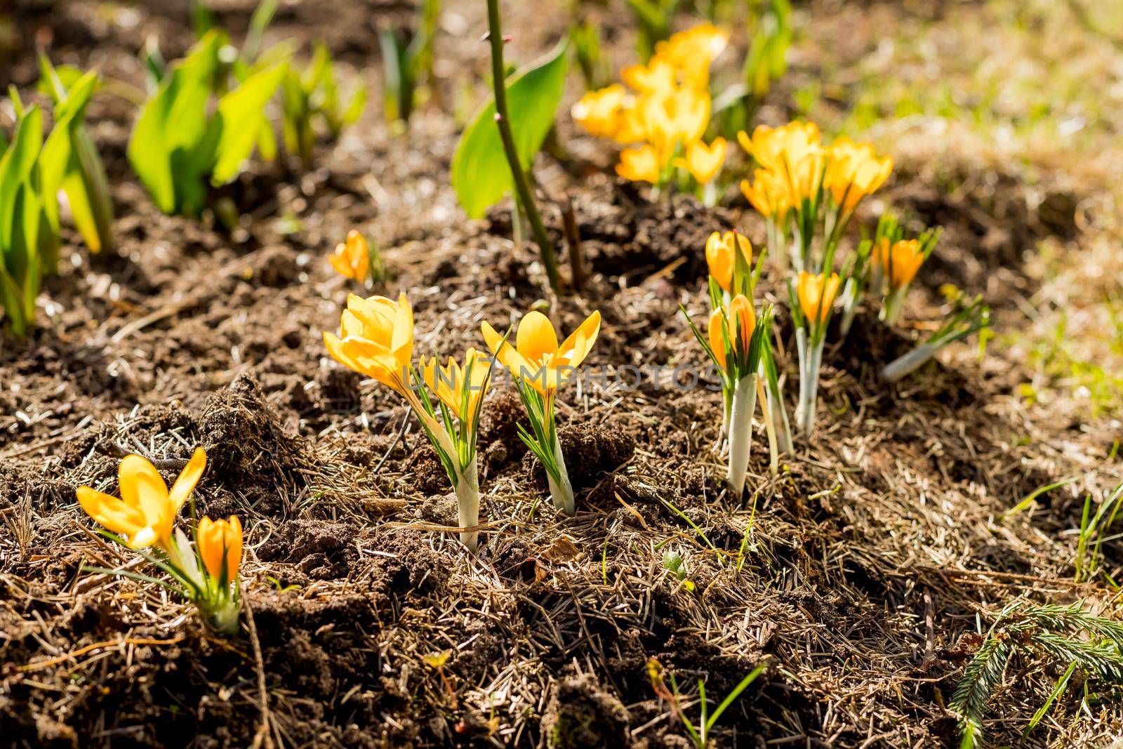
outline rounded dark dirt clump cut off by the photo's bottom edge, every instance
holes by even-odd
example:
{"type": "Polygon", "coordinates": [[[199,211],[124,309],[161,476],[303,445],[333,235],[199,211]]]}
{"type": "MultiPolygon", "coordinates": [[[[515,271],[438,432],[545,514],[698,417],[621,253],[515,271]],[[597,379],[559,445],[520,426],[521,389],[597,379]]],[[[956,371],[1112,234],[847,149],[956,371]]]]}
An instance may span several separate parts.
{"type": "Polygon", "coordinates": [[[550,749],[626,747],[631,716],[592,674],[558,679],[542,718],[550,749]]]}

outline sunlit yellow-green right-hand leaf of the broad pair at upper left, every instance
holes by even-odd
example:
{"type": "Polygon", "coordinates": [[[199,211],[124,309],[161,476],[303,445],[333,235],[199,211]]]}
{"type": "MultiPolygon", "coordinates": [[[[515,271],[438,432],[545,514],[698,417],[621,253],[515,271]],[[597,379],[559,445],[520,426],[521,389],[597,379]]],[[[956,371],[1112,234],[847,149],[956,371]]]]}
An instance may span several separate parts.
{"type": "Polygon", "coordinates": [[[211,126],[219,128],[216,149],[218,157],[211,172],[211,184],[223,185],[238,175],[257,141],[264,117],[262,111],[284,79],[287,65],[279,64],[254,73],[245,83],[218,102],[211,126]]]}

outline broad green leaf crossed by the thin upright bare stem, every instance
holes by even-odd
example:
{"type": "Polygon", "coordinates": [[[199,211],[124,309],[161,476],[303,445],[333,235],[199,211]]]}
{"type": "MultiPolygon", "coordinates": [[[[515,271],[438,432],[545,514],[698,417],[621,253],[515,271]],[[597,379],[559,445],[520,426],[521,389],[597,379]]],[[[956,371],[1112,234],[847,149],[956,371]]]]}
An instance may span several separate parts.
{"type": "MultiPolygon", "coordinates": [[[[511,134],[522,168],[529,168],[554,127],[568,67],[566,42],[506,80],[511,134]]],[[[495,101],[484,106],[460,136],[453,157],[453,188],[471,218],[503,199],[513,188],[511,170],[495,124],[495,101]]]]}

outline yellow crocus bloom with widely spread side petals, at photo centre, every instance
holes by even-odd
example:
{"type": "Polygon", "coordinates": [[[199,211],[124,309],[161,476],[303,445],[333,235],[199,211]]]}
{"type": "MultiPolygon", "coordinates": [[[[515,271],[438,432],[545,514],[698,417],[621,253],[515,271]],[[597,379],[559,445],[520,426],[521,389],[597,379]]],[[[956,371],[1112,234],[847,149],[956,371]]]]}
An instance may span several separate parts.
{"type": "Polygon", "coordinates": [[[554,325],[535,310],[519,322],[514,346],[511,346],[487,322],[483,323],[484,340],[500,364],[547,396],[569,381],[588,356],[600,331],[601,313],[593,312],[558,346],[554,325]]]}

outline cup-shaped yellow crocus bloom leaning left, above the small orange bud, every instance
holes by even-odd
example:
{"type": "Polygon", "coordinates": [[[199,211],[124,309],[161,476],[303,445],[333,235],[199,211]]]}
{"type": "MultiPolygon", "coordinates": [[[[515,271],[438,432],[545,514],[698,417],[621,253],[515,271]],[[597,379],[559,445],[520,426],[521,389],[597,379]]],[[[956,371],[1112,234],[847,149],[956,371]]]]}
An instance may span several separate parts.
{"type": "Polygon", "coordinates": [[[405,294],[396,302],[385,296],[363,299],[348,294],[339,327],[341,337],[323,332],[331,357],[409,398],[413,309],[405,294]]]}

